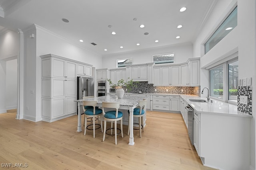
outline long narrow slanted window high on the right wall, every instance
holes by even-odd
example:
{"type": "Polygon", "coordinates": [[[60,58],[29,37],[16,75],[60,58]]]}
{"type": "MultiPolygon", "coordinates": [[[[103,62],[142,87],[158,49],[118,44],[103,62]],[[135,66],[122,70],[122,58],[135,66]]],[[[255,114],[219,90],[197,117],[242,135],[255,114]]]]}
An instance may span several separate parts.
{"type": "Polygon", "coordinates": [[[218,27],[213,35],[204,44],[204,53],[206,54],[212,49],[220,40],[222,40],[234,27],[237,25],[237,6],[231,12],[231,14],[224,20],[224,22],[218,27]]]}

